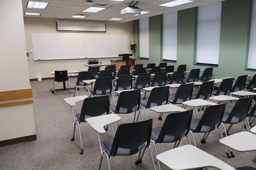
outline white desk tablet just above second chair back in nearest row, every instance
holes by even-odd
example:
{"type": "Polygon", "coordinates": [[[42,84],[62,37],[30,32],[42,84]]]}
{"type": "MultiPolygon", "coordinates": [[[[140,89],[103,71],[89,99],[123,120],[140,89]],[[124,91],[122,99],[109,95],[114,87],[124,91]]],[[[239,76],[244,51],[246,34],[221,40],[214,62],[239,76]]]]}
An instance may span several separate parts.
{"type": "Polygon", "coordinates": [[[182,112],[186,111],[183,108],[180,108],[178,106],[172,105],[172,104],[167,104],[167,105],[160,105],[160,106],[155,106],[152,108],[149,108],[151,111],[159,113],[158,120],[162,120],[163,113],[173,113],[173,112],[182,112]]]}

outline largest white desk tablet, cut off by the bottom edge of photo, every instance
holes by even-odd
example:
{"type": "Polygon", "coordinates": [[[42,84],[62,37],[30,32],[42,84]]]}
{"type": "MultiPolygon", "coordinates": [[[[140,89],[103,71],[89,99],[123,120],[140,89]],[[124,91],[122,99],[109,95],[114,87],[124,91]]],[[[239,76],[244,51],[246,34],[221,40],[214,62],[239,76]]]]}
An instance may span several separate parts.
{"type": "Polygon", "coordinates": [[[214,167],[220,170],[236,170],[218,158],[190,144],[157,155],[157,160],[171,170],[193,170],[214,167]]]}

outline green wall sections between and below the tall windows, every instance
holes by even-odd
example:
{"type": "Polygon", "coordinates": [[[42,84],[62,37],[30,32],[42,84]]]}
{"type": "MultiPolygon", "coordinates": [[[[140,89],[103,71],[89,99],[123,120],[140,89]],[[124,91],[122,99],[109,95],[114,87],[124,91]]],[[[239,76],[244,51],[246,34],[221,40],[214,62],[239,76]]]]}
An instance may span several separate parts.
{"type": "MultiPolygon", "coordinates": [[[[254,71],[244,70],[247,66],[251,4],[252,0],[226,0],[222,2],[219,66],[213,69],[213,75],[216,77],[256,74],[254,71]]],[[[188,70],[206,68],[194,65],[196,28],[197,8],[178,11],[177,63],[168,63],[168,65],[187,64],[188,70]]],[[[134,30],[134,43],[138,45],[138,20],[134,21],[134,30]]],[[[158,15],[149,17],[149,60],[138,59],[137,63],[159,63],[162,57],[161,50],[162,15],[158,15]]],[[[139,51],[138,46],[137,51],[139,51]]]]}

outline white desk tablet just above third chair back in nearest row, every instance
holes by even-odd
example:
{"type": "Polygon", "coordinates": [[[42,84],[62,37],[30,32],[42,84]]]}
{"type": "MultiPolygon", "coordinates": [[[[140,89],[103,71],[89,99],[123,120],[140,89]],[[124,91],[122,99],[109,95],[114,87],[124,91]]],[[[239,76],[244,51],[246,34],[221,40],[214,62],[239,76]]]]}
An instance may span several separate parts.
{"type": "MultiPolygon", "coordinates": [[[[197,116],[198,116],[198,111],[197,111],[196,107],[218,105],[217,103],[209,102],[209,101],[203,100],[203,99],[189,100],[186,102],[182,102],[182,104],[185,105],[185,108],[186,108],[186,106],[190,106],[192,109],[195,108],[197,116]]],[[[194,110],[193,110],[193,113],[194,113],[194,110]]],[[[194,116],[195,116],[195,113],[194,113],[194,116]]],[[[196,118],[196,116],[195,116],[195,118],[196,118]]],[[[199,116],[198,116],[198,118],[199,118],[199,116]]]]}

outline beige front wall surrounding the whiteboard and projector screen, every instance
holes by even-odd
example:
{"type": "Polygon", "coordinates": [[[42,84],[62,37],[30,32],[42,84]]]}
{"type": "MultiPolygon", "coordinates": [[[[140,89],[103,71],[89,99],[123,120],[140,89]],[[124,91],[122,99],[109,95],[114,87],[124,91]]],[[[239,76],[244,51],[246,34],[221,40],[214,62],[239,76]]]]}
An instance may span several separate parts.
{"type": "MultiPolygon", "coordinates": [[[[81,20],[76,20],[81,21],[81,20]]],[[[84,20],[82,20],[84,21],[84,20]]],[[[92,22],[91,20],[87,20],[92,22]]],[[[101,22],[101,21],[96,21],[101,22]]],[[[27,52],[32,49],[31,33],[55,33],[56,32],[56,22],[55,19],[48,18],[33,18],[24,17],[24,27],[26,36],[26,49],[27,52]]],[[[129,44],[133,44],[133,22],[119,23],[107,22],[106,24],[106,34],[126,34],[129,36],[129,44]]],[[[65,33],[69,34],[69,33],[65,33]]],[[[93,33],[77,33],[77,34],[93,34],[93,33]]],[[[132,51],[130,51],[132,52],[132,51]]],[[[86,68],[87,59],[65,59],[65,60],[48,60],[48,61],[32,61],[33,54],[29,53],[30,61],[29,65],[29,78],[35,79],[38,76],[43,78],[53,77],[49,74],[49,71],[54,70],[77,70],[80,71],[81,68],[86,68]]],[[[102,63],[109,63],[110,58],[100,58],[102,63]]]]}

